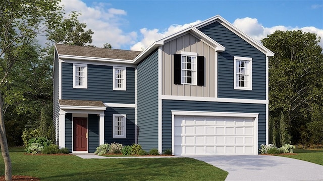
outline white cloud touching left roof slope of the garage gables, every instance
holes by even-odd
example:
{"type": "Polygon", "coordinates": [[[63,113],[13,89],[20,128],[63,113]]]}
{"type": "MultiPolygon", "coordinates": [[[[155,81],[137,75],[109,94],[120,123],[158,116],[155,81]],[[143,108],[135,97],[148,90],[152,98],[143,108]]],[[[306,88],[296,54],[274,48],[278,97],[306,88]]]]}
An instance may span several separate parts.
{"type": "Polygon", "coordinates": [[[147,28],[140,29],[140,33],[143,36],[142,40],[140,42],[137,42],[133,46],[130,47],[131,50],[137,50],[142,51],[146,49],[149,45],[151,45],[153,42],[164,38],[168,35],[171,35],[175,32],[178,32],[184,28],[187,28],[191,25],[195,25],[196,23],[199,23],[200,21],[196,21],[193,23],[185,24],[185,25],[171,25],[167,30],[164,32],[159,32],[158,29],[148,30],[147,28]]]}

